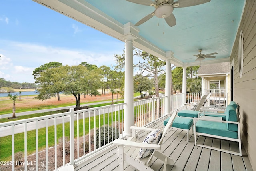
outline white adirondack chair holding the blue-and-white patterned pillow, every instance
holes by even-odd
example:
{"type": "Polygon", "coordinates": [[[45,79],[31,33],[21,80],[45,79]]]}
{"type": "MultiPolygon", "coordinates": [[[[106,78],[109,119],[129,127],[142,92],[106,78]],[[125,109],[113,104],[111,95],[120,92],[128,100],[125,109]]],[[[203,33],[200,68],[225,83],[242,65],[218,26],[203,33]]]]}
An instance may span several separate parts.
{"type": "Polygon", "coordinates": [[[129,163],[130,165],[134,166],[136,169],[140,171],[154,171],[149,167],[149,163],[152,160],[153,156],[157,157],[158,159],[164,161],[164,171],[166,171],[166,165],[174,165],[174,161],[164,155],[160,149],[161,145],[164,139],[164,136],[168,129],[172,127],[172,122],[174,118],[176,117],[177,112],[172,114],[170,117],[170,120],[164,127],[162,137],[158,144],[147,144],[147,143],[141,143],[139,140],[136,139],[136,130],[142,130],[142,131],[156,131],[157,129],[152,128],[146,128],[146,127],[130,127],[132,129],[132,137],[128,137],[127,140],[124,139],[116,139],[113,141],[114,144],[119,146],[119,149],[116,151],[116,155],[119,156],[119,170],[124,171],[124,161],[129,163]],[[140,148],[146,148],[146,149],[154,149],[154,151],[151,153],[151,155],[139,159],[139,151],[140,148]]]}

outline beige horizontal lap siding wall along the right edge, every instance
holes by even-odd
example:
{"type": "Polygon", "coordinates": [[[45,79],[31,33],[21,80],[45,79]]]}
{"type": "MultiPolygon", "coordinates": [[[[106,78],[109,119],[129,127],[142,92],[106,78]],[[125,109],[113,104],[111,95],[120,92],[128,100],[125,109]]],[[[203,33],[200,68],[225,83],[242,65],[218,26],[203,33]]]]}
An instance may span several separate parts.
{"type": "Polygon", "coordinates": [[[256,2],[247,0],[230,56],[234,60],[234,101],[239,105],[242,142],[252,168],[256,170],[256,2]],[[238,71],[238,40],[244,36],[244,64],[242,78],[238,71]]]}

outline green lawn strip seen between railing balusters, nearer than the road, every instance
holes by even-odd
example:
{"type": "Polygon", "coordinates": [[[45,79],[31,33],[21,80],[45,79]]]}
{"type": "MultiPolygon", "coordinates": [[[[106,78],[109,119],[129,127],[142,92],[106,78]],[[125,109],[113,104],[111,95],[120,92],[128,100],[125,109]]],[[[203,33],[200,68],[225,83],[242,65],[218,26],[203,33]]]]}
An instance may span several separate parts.
{"type": "MultiPolygon", "coordinates": [[[[113,115],[111,116],[111,113],[104,115],[100,115],[100,125],[105,125],[109,123],[110,125],[112,124],[112,119],[119,121],[120,120],[120,111],[113,112],[113,115]],[[118,117],[116,119],[116,116],[118,117]],[[103,123],[103,117],[105,117],[105,123],[103,123]]],[[[85,135],[89,133],[89,118],[85,118],[85,135]]],[[[90,125],[91,127],[94,127],[94,117],[90,118],[90,125]]],[[[99,125],[99,117],[96,117],[96,128],[99,125]]],[[[62,129],[62,124],[57,125],[56,130],[57,130],[57,141],[60,137],[63,137],[63,129],[62,129]]],[[[64,133],[65,136],[69,137],[69,122],[64,123],[64,133]]],[[[75,131],[75,137],[77,137],[77,121],[74,121],[74,131],[75,131]]],[[[54,126],[48,127],[48,146],[52,147],[54,146],[54,126]]],[[[83,135],[83,119],[79,120],[79,136],[83,135]]],[[[15,138],[15,153],[19,151],[24,151],[24,133],[18,133],[14,135],[15,138]]],[[[12,142],[12,136],[6,136],[6,137],[1,137],[1,144],[0,144],[0,158],[1,161],[11,161],[11,155],[12,155],[12,146],[10,142],[12,142]]],[[[38,129],[38,149],[42,150],[46,147],[46,129],[41,128],[38,129]]],[[[27,151],[28,154],[34,153],[36,151],[36,131],[28,131],[27,132],[27,151]]]]}

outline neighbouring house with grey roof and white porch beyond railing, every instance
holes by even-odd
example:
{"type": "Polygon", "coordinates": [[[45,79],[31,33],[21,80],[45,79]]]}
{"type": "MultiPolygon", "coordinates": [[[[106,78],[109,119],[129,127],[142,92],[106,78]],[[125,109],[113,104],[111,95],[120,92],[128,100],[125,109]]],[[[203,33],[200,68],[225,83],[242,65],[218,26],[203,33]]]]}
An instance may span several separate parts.
{"type": "Polygon", "coordinates": [[[212,106],[226,106],[230,98],[230,63],[201,65],[198,74],[202,78],[202,93],[212,93],[212,106]],[[215,88],[210,88],[214,84],[215,88]]]}

